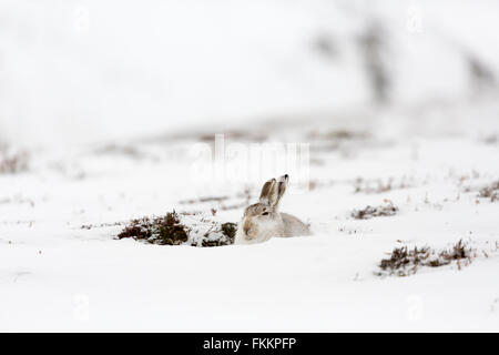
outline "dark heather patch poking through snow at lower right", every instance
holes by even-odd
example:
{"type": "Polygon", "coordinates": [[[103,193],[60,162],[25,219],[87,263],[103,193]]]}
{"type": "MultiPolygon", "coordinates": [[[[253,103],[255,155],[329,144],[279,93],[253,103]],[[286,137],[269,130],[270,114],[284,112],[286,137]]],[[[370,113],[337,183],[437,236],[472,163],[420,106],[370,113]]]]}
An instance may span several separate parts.
{"type": "Polygon", "coordinates": [[[408,248],[407,246],[396,247],[389,258],[384,258],[379,263],[380,271],[377,275],[414,275],[419,267],[438,267],[456,262],[459,270],[461,265],[469,265],[471,258],[476,256],[470,246],[460,240],[449,250],[435,251],[429,246],[408,248]]]}

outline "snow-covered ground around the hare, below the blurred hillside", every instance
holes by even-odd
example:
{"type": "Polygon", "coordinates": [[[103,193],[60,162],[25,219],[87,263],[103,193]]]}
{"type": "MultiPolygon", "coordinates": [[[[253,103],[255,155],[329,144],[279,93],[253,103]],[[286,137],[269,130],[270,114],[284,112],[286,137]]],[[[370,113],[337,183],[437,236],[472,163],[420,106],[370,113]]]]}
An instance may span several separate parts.
{"type": "Polygon", "coordinates": [[[33,151],[29,171],[0,175],[0,328],[499,331],[499,204],[477,197],[499,179],[499,106],[478,108],[437,106],[425,113],[434,118],[427,132],[396,110],[254,128],[310,144],[310,190],[292,189],[282,211],[309,222],[314,235],[253,246],[114,239],[115,222],[173,209],[214,207],[221,221],[238,221],[243,209],[230,206],[244,203],[246,187],[254,200],[263,181],[195,180],[195,136],[33,151]],[[389,181],[391,189],[378,190],[389,181]],[[230,199],[195,202],[207,196],[230,199]],[[352,219],[385,200],[397,215],[352,219]],[[477,254],[460,270],[375,275],[394,247],[458,240],[477,254]]]}

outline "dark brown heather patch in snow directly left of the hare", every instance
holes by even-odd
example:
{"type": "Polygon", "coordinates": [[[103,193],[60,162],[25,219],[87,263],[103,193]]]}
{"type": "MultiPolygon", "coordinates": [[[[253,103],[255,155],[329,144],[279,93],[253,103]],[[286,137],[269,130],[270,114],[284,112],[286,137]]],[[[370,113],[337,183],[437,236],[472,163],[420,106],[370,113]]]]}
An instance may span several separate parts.
{"type": "Polygon", "coordinates": [[[132,220],[118,239],[131,237],[160,245],[222,246],[234,243],[237,225],[218,223],[205,214],[166,213],[164,216],[132,220]]]}

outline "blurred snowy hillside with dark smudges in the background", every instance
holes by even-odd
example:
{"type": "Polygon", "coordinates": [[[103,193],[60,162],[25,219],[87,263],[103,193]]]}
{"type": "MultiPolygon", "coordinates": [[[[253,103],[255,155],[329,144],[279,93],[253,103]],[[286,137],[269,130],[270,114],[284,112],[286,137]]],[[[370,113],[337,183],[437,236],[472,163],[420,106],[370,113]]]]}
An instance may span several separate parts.
{"type": "Polygon", "coordinates": [[[295,120],[370,129],[394,110],[431,132],[449,126],[435,108],[464,103],[493,106],[490,122],[497,13],[493,0],[2,0],[0,142],[58,148],[295,120]]]}

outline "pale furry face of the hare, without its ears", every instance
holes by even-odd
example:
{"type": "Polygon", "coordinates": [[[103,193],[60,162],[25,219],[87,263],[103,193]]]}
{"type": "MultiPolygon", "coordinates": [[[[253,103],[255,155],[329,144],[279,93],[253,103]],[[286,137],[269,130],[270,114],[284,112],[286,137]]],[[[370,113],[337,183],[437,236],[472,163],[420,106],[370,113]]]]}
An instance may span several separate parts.
{"type": "Polygon", "coordinates": [[[271,237],[281,226],[281,215],[268,205],[255,203],[244,211],[242,234],[247,240],[271,237]]]}

